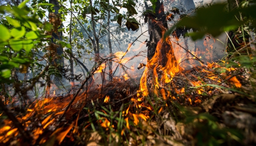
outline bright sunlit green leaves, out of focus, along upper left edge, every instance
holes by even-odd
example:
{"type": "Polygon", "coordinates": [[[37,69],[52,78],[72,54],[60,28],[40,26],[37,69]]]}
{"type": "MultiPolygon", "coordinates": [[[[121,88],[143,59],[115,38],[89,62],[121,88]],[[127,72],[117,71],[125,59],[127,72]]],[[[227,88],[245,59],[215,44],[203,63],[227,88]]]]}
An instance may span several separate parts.
{"type": "Polygon", "coordinates": [[[47,41],[44,29],[50,29],[51,25],[40,22],[36,15],[29,16],[32,8],[26,6],[27,2],[23,1],[19,6],[0,6],[2,14],[9,14],[5,17],[7,21],[3,19],[0,22],[1,83],[13,81],[10,77],[14,69],[26,73],[33,62],[32,49],[38,43],[47,41]]]}

